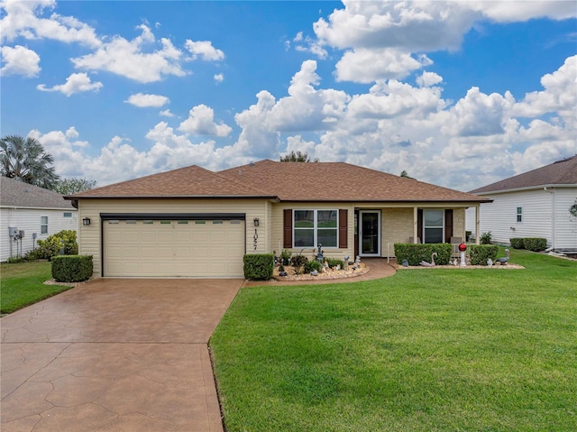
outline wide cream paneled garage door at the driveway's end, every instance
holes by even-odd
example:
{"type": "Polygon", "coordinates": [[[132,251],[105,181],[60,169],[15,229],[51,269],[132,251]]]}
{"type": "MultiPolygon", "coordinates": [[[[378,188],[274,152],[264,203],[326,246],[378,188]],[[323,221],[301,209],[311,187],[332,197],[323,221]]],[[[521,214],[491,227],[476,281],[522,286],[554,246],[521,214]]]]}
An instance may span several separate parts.
{"type": "Polygon", "coordinates": [[[243,277],[241,220],[106,220],[104,275],[243,277]]]}

